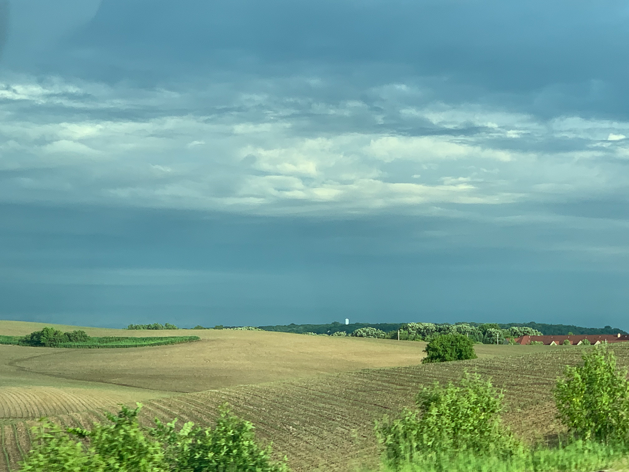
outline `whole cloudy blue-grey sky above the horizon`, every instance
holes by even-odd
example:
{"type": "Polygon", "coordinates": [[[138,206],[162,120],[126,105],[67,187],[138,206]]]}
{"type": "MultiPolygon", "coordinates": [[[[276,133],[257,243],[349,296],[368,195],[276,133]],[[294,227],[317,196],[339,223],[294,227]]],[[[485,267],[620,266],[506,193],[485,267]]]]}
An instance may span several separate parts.
{"type": "Polygon", "coordinates": [[[629,6],[0,0],[0,318],[629,330],[629,6]]]}

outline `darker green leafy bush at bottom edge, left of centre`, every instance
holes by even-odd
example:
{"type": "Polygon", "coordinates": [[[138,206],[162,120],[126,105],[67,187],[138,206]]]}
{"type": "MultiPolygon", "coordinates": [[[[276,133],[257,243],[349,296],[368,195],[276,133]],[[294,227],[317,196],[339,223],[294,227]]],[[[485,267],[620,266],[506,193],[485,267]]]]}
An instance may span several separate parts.
{"type": "Polygon", "coordinates": [[[221,407],[214,428],[202,429],[186,423],[176,432],[175,422],[155,422],[157,428],[152,435],[165,444],[166,461],[173,471],[288,471],[285,462],[271,460],[270,445],[258,445],[253,425],[232,415],[226,405],[221,407]]]}

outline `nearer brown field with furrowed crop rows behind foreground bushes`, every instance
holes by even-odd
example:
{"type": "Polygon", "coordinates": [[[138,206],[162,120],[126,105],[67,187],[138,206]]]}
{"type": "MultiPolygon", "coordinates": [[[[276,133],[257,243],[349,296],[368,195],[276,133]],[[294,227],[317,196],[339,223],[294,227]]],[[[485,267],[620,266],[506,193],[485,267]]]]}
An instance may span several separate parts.
{"type": "MultiPolygon", "coordinates": [[[[177,417],[180,422],[208,425],[218,407],[228,402],[235,413],[256,425],[262,439],[274,442],[279,455],[287,454],[291,467],[298,472],[375,467],[374,420],[412,405],[422,386],[434,381],[458,381],[465,370],[491,377],[494,385],[504,389],[505,420],[518,434],[528,439],[555,434],[560,427],[554,419],[552,387],[565,364],[579,362],[583,349],[592,348],[556,347],[545,354],[364,369],[155,398],[145,402],[141,420],[150,425],[154,417],[177,417]]],[[[629,349],[614,349],[619,364],[629,365],[629,349]]],[[[103,410],[60,415],[57,420],[85,427],[103,420],[103,410]]],[[[20,452],[9,434],[13,425],[4,430],[5,450],[11,461],[20,452]]]]}

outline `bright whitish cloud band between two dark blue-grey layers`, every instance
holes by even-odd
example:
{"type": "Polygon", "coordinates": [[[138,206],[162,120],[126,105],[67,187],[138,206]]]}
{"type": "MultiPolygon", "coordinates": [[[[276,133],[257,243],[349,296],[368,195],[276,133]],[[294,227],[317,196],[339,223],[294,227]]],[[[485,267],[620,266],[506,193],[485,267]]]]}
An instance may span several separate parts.
{"type": "Polygon", "coordinates": [[[8,104],[0,169],[26,172],[0,181],[0,199],[334,214],[587,198],[629,186],[618,167],[629,151],[608,142],[629,133],[629,123],[410,106],[404,100],[421,93],[404,84],[383,87],[376,111],[360,101],[239,93],[221,104],[225,111],[205,115],[207,105],[187,110],[194,100],[185,93],[41,83],[0,89],[8,104]],[[39,114],[21,113],[33,103],[39,114]],[[372,128],[389,115],[402,121],[372,128]],[[435,127],[409,134],[418,123],[435,127]],[[45,178],[35,174],[44,168],[45,178]]]}

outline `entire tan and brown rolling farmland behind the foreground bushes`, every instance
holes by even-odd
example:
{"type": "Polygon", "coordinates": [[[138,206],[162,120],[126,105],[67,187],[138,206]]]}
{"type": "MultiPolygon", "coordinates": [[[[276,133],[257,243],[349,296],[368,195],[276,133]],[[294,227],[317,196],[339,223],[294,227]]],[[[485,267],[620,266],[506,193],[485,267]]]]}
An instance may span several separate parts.
{"type": "MultiPolygon", "coordinates": [[[[0,322],[0,334],[41,323],[0,322]]],[[[61,327],[64,330],[76,327],[61,327]]],[[[170,335],[168,331],[87,329],[91,335],[170,335]]],[[[30,447],[28,424],[49,415],[68,426],[103,421],[117,403],[143,402],[153,418],[209,425],[233,410],[274,442],[296,471],[349,471],[377,465],[373,423],[413,404],[433,381],[465,370],[504,389],[506,421],[526,436],[554,434],[551,390],[585,347],[477,346],[479,359],[418,365],[424,343],[231,330],[189,330],[202,340],[133,349],[0,346],[0,471],[16,469],[30,447]]],[[[629,349],[614,346],[619,363],[629,349]]]]}

